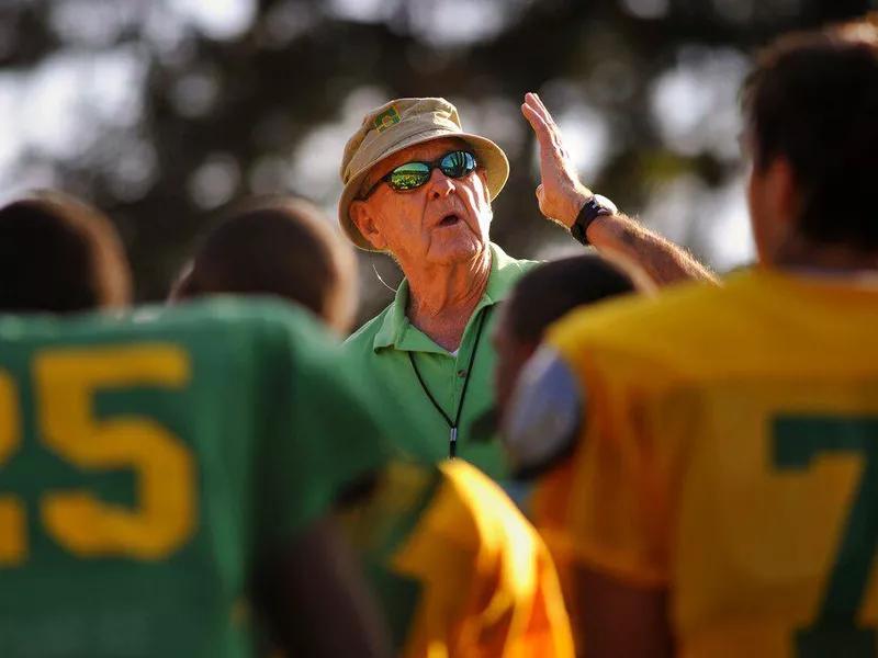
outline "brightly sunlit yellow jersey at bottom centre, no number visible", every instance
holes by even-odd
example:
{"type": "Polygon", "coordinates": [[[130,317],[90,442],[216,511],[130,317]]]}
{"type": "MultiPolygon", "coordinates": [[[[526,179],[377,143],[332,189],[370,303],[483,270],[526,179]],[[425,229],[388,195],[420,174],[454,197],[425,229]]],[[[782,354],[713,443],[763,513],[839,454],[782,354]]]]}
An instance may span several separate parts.
{"type": "Polygon", "coordinates": [[[570,658],[545,545],[503,490],[462,461],[393,463],[345,525],[405,658],[570,658]]]}

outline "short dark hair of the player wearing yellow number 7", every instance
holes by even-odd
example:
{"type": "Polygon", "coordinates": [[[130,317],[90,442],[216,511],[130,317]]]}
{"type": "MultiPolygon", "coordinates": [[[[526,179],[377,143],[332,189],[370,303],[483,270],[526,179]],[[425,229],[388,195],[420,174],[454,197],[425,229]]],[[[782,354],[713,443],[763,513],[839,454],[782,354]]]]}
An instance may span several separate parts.
{"type": "Polygon", "coordinates": [[[800,235],[878,250],[878,13],[779,38],[759,55],[742,105],[755,166],[790,164],[800,235]]]}

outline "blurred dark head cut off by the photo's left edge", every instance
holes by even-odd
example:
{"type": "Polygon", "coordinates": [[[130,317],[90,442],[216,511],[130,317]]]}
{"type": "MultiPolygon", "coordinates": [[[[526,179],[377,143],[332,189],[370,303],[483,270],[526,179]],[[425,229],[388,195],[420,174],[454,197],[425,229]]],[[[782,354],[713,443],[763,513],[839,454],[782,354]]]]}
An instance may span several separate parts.
{"type": "Polygon", "coordinates": [[[0,207],[0,313],[78,313],[131,300],[131,270],[110,220],[55,191],[0,207]]]}

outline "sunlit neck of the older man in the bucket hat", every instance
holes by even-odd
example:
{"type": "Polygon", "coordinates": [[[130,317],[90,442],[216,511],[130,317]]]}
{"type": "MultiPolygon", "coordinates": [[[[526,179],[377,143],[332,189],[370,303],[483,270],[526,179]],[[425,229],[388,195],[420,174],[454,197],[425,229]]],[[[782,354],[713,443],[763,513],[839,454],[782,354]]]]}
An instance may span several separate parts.
{"type": "Polygon", "coordinates": [[[441,348],[453,352],[487,288],[491,251],[450,265],[403,268],[408,280],[409,321],[441,348]]]}

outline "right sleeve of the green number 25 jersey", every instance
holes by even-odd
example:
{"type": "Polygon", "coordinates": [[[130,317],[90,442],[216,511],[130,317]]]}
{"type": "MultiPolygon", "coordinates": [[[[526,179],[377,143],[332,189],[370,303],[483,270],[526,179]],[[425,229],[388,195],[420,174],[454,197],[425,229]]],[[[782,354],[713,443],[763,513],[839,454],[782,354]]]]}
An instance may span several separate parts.
{"type": "Polygon", "coordinates": [[[383,433],[340,349],[283,329],[273,339],[256,470],[263,552],[333,510],[386,461],[383,433]]]}

